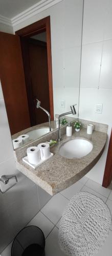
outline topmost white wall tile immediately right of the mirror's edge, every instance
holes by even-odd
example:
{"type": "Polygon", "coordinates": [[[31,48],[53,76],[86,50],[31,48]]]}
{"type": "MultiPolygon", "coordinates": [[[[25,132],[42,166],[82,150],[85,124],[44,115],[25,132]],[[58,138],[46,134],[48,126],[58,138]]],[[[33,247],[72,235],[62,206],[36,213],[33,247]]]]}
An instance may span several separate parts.
{"type": "Polygon", "coordinates": [[[103,40],[106,2],[105,0],[84,0],[83,44],[103,40]]]}

